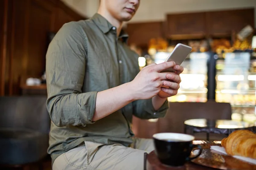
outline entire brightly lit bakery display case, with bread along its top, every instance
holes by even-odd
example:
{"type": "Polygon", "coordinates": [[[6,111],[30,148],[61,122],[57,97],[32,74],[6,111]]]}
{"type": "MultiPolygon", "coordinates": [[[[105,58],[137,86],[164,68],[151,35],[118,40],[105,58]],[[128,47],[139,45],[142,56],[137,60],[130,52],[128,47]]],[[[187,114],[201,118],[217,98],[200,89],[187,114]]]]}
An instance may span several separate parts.
{"type": "MultiPolygon", "coordinates": [[[[193,50],[181,64],[180,89],[169,102],[229,102],[233,120],[256,122],[256,53],[247,50],[248,40],[244,42],[230,45],[227,39],[215,39],[210,43],[212,51],[207,51],[204,41],[189,41],[193,50]]],[[[153,62],[164,62],[172,49],[155,52],[153,62]]]]}

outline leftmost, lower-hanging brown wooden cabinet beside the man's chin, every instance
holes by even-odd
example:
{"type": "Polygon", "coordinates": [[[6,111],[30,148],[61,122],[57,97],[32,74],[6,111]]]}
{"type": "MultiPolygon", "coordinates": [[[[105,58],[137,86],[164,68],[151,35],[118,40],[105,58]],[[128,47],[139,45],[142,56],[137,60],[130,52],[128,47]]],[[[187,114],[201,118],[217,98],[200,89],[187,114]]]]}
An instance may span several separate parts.
{"type": "Polygon", "coordinates": [[[151,38],[163,38],[163,22],[130,23],[126,32],[129,35],[129,45],[147,47],[151,38]]]}

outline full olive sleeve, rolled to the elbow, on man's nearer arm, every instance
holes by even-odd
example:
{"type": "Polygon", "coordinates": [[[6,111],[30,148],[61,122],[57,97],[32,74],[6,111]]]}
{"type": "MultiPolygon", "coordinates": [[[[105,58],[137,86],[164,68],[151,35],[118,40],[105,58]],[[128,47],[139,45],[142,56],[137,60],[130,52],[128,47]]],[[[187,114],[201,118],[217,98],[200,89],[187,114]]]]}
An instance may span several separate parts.
{"type": "Polygon", "coordinates": [[[47,51],[47,109],[59,127],[93,123],[97,91],[82,93],[87,60],[85,40],[79,24],[67,23],[47,51]]]}

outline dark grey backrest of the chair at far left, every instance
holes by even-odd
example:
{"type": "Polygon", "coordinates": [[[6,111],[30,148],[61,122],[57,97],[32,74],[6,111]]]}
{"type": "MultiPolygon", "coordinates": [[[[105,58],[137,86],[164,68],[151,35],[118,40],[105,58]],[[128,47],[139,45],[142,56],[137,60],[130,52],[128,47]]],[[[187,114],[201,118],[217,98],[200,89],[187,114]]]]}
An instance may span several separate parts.
{"type": "Polygon", "coordinates": [[[1,96],[0,127],[20,127],[49,133],[46,96],[1,96]]]}

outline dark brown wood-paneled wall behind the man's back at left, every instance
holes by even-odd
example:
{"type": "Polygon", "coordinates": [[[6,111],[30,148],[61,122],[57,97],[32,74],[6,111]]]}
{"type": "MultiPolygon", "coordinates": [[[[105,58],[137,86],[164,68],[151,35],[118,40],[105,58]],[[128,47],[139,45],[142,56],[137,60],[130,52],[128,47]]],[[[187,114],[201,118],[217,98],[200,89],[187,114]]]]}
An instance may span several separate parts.
{"type": "Polygon", "coordinates": [[[49,32],[84,19],[60,0],[0,0],[0,96],[20,94],[21,77],[43,74],[49,32]]]}

